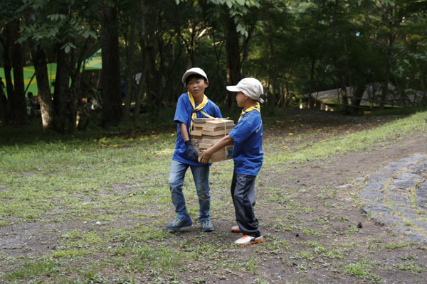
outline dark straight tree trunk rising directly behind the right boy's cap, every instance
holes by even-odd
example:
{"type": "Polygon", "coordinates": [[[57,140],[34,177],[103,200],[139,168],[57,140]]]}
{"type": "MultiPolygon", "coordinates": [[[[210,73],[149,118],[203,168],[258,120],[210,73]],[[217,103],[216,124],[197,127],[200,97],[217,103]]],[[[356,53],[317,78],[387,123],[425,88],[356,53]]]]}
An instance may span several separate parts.
{"type": "MultiPolygon", "coordinates": [[[[236,85],[241,80],[239,34],[233,18],[226,20],[226,57],[227,57],[227,85],[236,85]]],[[[234,102],[233,92],[228,92],[226,106],[231,108],[234,102]]]]}

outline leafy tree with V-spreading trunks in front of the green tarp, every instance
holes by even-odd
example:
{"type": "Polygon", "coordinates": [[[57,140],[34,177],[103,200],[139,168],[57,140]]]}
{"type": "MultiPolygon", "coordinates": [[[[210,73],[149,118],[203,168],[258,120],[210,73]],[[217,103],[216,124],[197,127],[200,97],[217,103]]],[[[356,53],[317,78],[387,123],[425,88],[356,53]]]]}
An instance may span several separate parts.
{"type": "MultiPolygon", "coordinates": [[[[76,38],[96,38],[95,32],[88,28],[90,25],[84,25],[79,18],[79,15],[89,18],[85,13],[95,11],[96,6],[90,4],[91,2],[88,0],[71,3],[61,0],[55,1],[53,4],[48,2],[48,0],[26,0],[20,7],[19,11],[26,15],[26,26],[21,28],[22,36],[19,38],[19,42],[31,40],[32,43],[31,54],[36,77],[38,82],[41,82],[38,84],[38,92],[41,101],[43,131],[53,129],[59,133],[65,133],[68,129],[69,132],[72,132],[75,129],[75,92],[77,88],[73,87],[70,92],[69,82],[71,76],[73,83],[77,84],[80,66],[77,70],[75,69],[76,57],[74,56],[73,60],[71,57],[73,53],[70,53],[70,50],[76,48],[76,38]],[[54,47],[52,50],[50,50],[51,46],[54,47]],[[43,50],[50,50],[56,55],[58,63],[53,102],[51,89],[48,86],[48,73],[46,67],[43,67],[47,62],[46,53],[43,50]],[[68,106],[69,96],[70,104],[68,106]]],[[[84,45],[80,51],[82,54],[85,53],[84,45]]]]}

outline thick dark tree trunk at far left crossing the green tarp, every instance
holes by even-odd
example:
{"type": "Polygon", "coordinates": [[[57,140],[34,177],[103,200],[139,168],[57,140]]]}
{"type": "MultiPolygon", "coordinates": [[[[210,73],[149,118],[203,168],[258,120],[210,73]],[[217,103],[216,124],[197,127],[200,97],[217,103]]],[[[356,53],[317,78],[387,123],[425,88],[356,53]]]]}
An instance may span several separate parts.
{"type": "Polygon", "coordinates": [[[28,115],[26,113],[25,87],[23,85],[23,50],[22,45],[16,42],[21,36],[19,34],[19,20],[7,23],[6,28],[9,30],[11,67],[14,70],[14,87],[12,87],[11,82],[8,84],[10,89],[14,89],[13,92],[9,93],[8,88],[9,124],[11,126],[25,125],[28,121],[28,115]]]}

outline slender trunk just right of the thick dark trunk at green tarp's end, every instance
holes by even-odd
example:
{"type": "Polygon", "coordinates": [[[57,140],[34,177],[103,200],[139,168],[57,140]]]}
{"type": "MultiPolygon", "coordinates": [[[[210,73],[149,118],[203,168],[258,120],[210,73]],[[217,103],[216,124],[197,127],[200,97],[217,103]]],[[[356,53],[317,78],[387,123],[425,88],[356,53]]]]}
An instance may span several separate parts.
{"type": "Polygon", "coordinates": [[[130,119],[130,103],[132,99],[133,89],[133,61],[135,53],[135,21],[131,18],[132,23],[130,24],[130,38],[129,48],[127,50],[127,72],[126,72],[126,97],[125,97],[125,109],[123,110],[123,121],[127,122],[130,119]]]}

